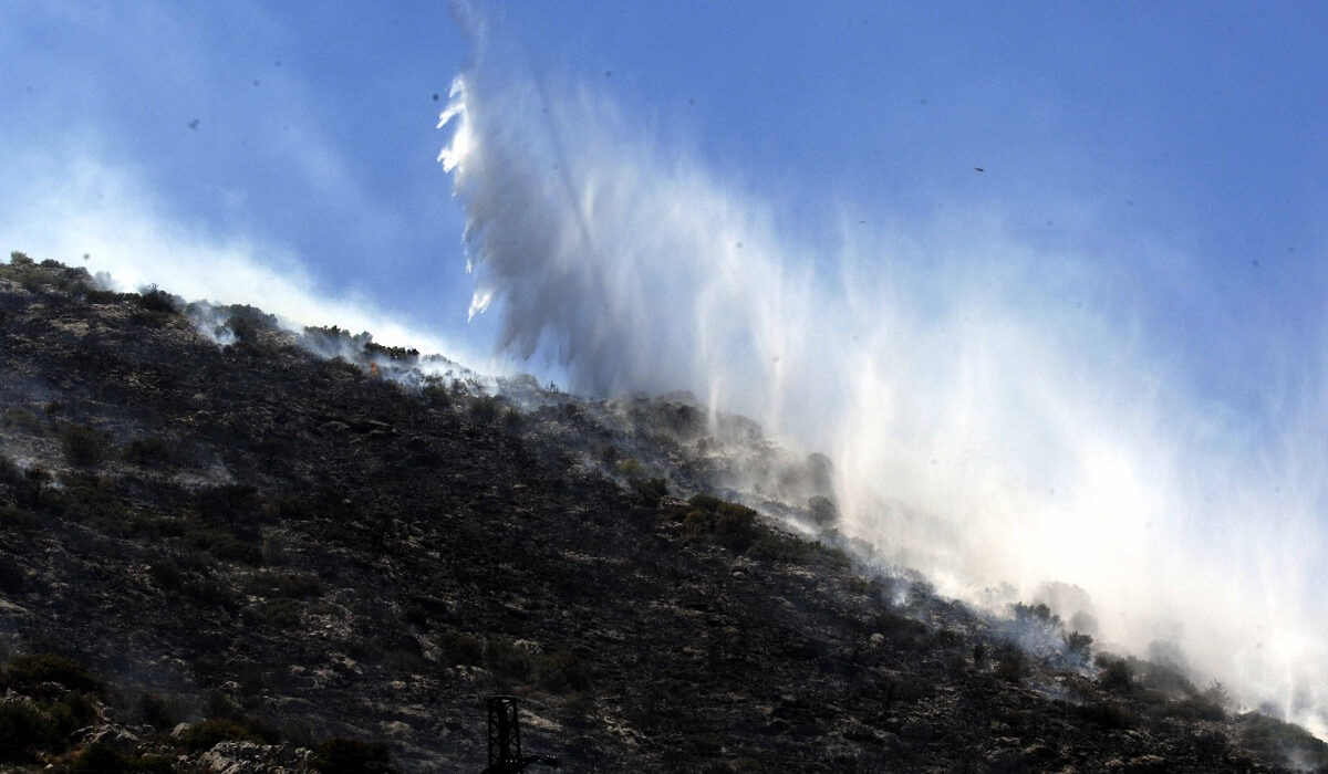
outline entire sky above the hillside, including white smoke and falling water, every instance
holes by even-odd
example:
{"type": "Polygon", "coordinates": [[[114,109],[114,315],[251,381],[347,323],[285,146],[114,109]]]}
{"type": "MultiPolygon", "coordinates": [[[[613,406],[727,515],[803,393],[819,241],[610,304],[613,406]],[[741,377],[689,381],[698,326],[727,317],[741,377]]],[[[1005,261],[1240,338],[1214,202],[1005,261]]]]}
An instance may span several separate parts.
{"type": "Polygon", "coordinates": [[[1157,615],[1228,623],[1223,673],[1283,627],[1236,684],[1324,682],[1328,5],[459,16],[478,32],[446,3],[5,3],[0,238],[481,366],[507,341],[559,381],[692,389],[835,453],[846,510],[884,482],[1027,538],[984,571],[1086,568],[1122,605],[1230,584],[1242,615],[1157,615]],[[481,151],[454,177],[462,72],[481,151]]]}

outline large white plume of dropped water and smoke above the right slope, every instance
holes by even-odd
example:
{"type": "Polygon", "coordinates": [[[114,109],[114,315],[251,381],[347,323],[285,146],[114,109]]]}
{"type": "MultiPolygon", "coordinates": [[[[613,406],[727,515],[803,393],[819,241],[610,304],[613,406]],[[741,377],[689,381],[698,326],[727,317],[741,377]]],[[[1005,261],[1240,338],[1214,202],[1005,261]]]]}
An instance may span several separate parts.
{"type": "Polygon", "coordinates": [[[1090,603],[1062,612],[1096,617],[1098,641],[1174,643],[1323,732],[1328,427],[1295,400],[1317,374],[1283,390],[1289,430],[1255,435],[1104,311],[1088,258],[980,218],[910,239],[847,214],[781,222],[540,78],[481,64],[444,114],[471,311],[502,316],[503,349],[576,389],[688,389],[748,414],[830,454],[846,531],[943,591],[1074,584],[1090,603]]]}

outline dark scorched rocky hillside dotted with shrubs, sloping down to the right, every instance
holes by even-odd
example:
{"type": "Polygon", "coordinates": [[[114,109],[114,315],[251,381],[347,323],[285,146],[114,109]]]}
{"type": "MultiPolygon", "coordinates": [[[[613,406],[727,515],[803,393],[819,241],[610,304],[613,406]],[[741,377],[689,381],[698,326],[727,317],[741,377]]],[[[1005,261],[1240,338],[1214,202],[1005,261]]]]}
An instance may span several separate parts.
{"type": "Polygon", "coordinates": [[[778,458],[749,422],[275,323],[0,266],[0,766],[479,771],[505,693],[571,771],[1328,767],[863,564],[823,458],[765,470],[805,507],[730,502],[736,449],[778,458]]]}

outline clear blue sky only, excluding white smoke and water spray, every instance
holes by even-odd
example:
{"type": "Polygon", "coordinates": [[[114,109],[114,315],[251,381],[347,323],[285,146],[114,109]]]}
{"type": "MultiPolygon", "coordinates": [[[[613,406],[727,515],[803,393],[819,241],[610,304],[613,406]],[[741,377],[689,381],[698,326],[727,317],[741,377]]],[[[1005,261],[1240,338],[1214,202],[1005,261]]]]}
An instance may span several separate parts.
{"type": "MultiPolygon", "coordinates": [[[[845,204],[891,223],[983,210],[1049,260],[1101,254],[1112,300],[1201,389],[1248,402],[1270,336],[1319,337],[1319,5],[478,5],[525,66],[616,101],[809,231],[845,204]]],[[[469,56],[445,3],[0,13],[7,155],[126,170],[161,218],[279,247],[320,292],[483,349],[433,163],[433,96],[469,56]]]]}

